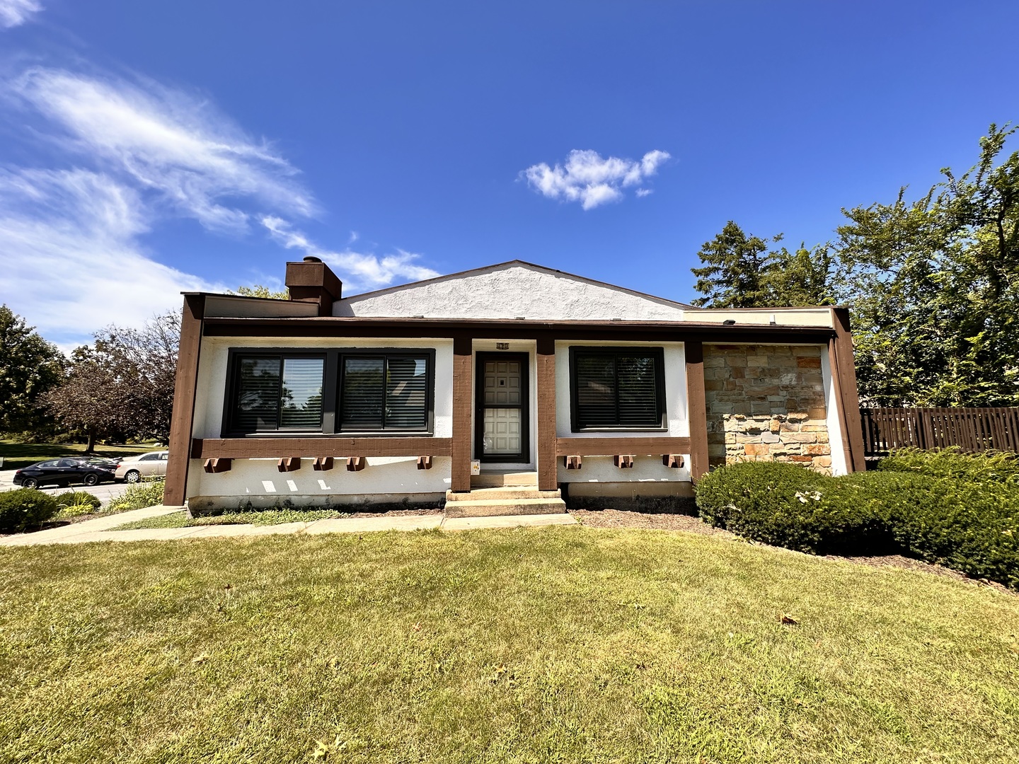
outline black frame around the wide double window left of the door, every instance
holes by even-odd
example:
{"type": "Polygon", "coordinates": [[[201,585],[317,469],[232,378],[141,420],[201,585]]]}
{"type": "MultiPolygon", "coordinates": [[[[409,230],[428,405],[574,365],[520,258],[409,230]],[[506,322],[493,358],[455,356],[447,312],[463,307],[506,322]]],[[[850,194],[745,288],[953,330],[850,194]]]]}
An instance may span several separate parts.
{"type": "MultiPolygon", "coordinates": [[[[278,420],[277,420],[278,421],[278,420]]],[[[293,437],[329,437],[342,435],[344,437],[398,437],[414,435],[430,437],[435,431],[435,348],[434,347],[230,347],[227,351],[227,378],[223,395],[223,416],[220,427],[220,437],[223,438],[279,438],[293,437]],[[413,357],[425,360],[425,400],[427,414],[425,426],[422,428],[390,428],[358,430],[341,430],[339,426],[340,412],[340,376],[343,369],[343,359],[350,357],[413,357]],[[233,423],[233,410],[236,403],[236,388],[240,362],[250,358],[319,358],[324,359],[322,379],[322,426],[315,429],[281,428],[276,430],[249,431],[237,429],[233,423]]]]}

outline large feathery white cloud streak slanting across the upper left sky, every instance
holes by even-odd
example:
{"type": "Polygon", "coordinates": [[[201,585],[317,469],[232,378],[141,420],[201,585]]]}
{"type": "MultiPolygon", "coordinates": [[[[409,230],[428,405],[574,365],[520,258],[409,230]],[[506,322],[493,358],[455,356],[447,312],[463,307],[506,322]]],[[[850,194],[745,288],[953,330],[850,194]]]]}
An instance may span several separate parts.
{"type": "Polygon", "coordinates": [[[62,128],[55,137],[62,148],[129,177],[210,230],[248,229],[242,198],[291,214],[315,210],[286,160],[180,92],[48,68],[29,69],[11,90],[62,128]]]}

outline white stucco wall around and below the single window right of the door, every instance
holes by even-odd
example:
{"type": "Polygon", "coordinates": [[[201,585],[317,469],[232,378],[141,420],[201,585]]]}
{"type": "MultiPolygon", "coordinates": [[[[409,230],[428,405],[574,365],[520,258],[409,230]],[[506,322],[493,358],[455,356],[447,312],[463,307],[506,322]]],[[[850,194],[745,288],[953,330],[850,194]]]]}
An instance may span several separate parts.
{"type": "MultiPolygon", "coordinates": [[[[557,341],[555,343],[555,433],[560,438],[641,438],[676,437],[690,435],[689,406],[687,404],[687,360],[682,342],[612,342],[612,347],[661,347],[665,362],[665,421],[666,432],[618,431],[572,432],[570,421],[570,348],[597,347],[600,341],[557,341]]],[[[585,456],[581,470],[567,470],[562,459],[557,459],[560,483],[630,483],[678,482],[690,480],[690,454],[684,454],[684,467],[674,469],[661,463],[661,454],[639,454],[634,467],[621,470],[610,456],[585,456]]]]}

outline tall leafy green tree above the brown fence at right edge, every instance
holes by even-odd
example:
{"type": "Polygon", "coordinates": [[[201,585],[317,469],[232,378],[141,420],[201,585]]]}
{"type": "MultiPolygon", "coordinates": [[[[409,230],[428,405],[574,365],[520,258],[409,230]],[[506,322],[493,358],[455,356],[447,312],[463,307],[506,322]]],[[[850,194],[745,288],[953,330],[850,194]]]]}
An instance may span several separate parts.
{"type": "Polygon", "coordinates": [[[843,210],[835,244],[861,395],[880,405],[1019,404],[1019,152],[991,124],[976,165],[908,203],[843,210]]]}

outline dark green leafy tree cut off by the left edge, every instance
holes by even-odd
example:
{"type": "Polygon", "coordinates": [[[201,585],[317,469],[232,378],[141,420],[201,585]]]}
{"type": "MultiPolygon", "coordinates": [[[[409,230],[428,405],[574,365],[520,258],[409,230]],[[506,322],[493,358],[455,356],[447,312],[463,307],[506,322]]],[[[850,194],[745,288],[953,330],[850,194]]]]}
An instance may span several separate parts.
{"type": "Polygon", "coordinates": [[[64,357],[24,319],[0,306],[0,432],[45,424],[40,396],[60,381],[64,357]]]}

